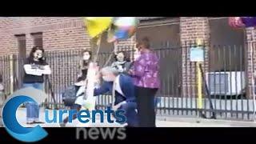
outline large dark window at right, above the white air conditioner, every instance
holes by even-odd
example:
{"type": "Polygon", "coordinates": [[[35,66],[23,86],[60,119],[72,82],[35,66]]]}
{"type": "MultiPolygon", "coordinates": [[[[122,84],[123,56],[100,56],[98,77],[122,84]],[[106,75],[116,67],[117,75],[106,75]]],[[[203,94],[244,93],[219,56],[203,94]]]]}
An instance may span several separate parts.
{"type": "Polygon", "coordinates": [[[210,71],[245,70],[245,32],[229,26],[228,18],[209,18],[210,71]]]}

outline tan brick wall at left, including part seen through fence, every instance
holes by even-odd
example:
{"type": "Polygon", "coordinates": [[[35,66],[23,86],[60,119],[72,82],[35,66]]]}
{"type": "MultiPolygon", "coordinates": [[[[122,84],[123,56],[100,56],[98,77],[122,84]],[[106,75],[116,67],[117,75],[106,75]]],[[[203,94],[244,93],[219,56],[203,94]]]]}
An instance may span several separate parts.
{"type": "MultiPolygon", "coordinates": [[[[78,74],[78,63],[75,62],[81,57],[78,52],[90,48],[90,39],[86,34],[82,17],[5,17],[0,18],[0,69],[4,75],[6,90],[10,86],[10,60],[6,59],[5,55],[18,54],[18,40],[14,35],[26,34],[26,54],[29,54],[34,46],[31,33],[37,32],[42,32],[46,52],[55,51],[48,55],[54,57],[48,58],[53,70],[50,79],[54,89],[57,89],[56,86],[60,89],[66,86],[63,84],[74,82],[78,74]],[[63,55],[66,58],[62,58],[63,55]]],[[[17,61],[14,62],[14,66],[15,63],[17,61]]]]}

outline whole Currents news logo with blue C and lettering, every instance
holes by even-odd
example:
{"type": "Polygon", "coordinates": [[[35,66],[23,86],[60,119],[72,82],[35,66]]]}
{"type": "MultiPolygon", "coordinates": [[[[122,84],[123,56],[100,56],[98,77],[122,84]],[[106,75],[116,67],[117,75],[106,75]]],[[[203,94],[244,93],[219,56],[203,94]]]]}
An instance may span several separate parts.
{"type": "MultiPolygon", "coordinates": [[[[18,90],[14,92],[2,108],[2,123],[6,128],[6,131],[15,139],[22,142],[38,142],[43,138],[46,138],[48,133],[41,126],[35,127],[23,127],[19,124],[16,118],[16,112],[18,107],[25,102],[36,102],[38,104],[42,103],[46,99],[47,95],[42,90],[34,89],[33,87],[28,87],[25,89],[18,90]]],[[[107,107],[106,110],[92,110],[91,114],[88,110],[53,110],[53,113],[50,114],[49,110],[45,110],[45,122],[50,123],[61,123],[63,122],[63,114],[68,114],[68,122],[73,121],[73,115],[78,114],[78,121],[81,123],[96,122],[96,115],[100,115],[100,123],[104,122],[104,115],[106,114],[107,123],[118,122],[120,124],[126,123],[125,110],[111,110],[110,107],[107,107]],[[111,120],[111,115],[114,115],[115,121],[111,120]]],[[[125,129],[114,129],[114,130],[96,130],[90,129],[88,132],[85,132],[85,129],[78,129],[78,131],[83,131],[83,138],[95,139],[102,135],[102,138],[114,138],[115,135],[118,135],[118,139],[125,139],[125,129]],[[100,133],[101,132],[101,133],[100,133]],[[96,135],[94,135],[96,134],[96,135]],[[88,137],[87,137],[88,135],[88,137]]],[[[77,131],[77,134],[79,133],[77,131]]],[[[78,136],[77,136],[78,138],[78,136]]]]}

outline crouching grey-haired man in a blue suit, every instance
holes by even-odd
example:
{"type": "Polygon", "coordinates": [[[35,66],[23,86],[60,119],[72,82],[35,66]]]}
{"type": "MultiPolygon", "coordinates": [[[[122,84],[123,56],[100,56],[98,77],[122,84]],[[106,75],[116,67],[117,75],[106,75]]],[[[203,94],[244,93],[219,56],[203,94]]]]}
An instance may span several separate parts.
{"type": "Polygon", "coordinates": [[[137,103],[135,102],[134,84],[130,76],[119,74],[118,70],[107,66],[101,70],[102,86],[94,89],[94,95],[112,92],[114,95],[113,110],[125,110],[126,122],[130,127],[138,126],[137,103]]]}

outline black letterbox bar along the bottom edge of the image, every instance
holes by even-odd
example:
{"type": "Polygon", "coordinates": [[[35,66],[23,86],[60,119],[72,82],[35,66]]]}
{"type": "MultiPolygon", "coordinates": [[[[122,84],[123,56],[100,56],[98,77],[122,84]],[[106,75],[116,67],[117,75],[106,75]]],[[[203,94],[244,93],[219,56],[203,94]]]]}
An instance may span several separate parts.
{"type": "MultiPolygon", "coordinates": [[[[168,142],[172,144],[178,143],[246,143],[254,142],[254,128],[126,128],[126,139],[119,140],[103,139],[99,137],[97,140],[92,139],[76,139],[76,128],[45,128],[48,136],[43,140],[45,142],[168,142]]],[[[86,128],[90,130],[92,128],[86,128]]],[[[113,130],[114,128],[98,128],[102,130],[113,130]]],[[[18,142],[6,133],[4,128],[0,129],[0,142],[18,142]]],[[[38,142],[37,142],[38,143],[38,142]]]]}

